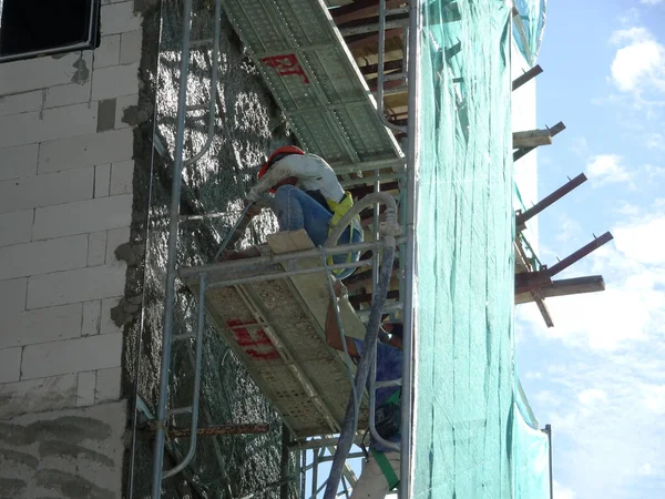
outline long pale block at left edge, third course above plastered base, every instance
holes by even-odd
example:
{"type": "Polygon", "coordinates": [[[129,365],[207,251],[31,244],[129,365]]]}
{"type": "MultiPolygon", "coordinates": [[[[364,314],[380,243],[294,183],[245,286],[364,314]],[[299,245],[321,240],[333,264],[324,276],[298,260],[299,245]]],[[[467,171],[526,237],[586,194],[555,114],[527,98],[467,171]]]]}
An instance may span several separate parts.
{"type": "Polygon", "coordinates": [[[0,348],[78,338],[81,336],[81,308],[78,303],[3,314],[0,348]]]}

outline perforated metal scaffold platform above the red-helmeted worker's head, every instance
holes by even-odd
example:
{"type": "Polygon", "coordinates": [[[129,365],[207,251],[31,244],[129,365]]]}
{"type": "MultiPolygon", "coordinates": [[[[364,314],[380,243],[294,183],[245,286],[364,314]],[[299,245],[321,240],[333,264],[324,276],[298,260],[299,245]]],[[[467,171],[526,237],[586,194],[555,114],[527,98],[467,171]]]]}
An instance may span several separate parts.
{"type": "Polygon", "coordinates": [[[308,152],[334,167],[403,157],[321,0],[222,4],[308,152]]]}

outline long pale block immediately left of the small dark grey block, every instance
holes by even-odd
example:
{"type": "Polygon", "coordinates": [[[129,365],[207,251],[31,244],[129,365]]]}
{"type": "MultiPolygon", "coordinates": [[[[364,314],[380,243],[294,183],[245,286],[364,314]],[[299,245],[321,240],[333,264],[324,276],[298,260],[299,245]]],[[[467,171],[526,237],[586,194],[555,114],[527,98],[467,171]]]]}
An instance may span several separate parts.
{"type": "Polygon", "coordinates": [[[0,118],[0,147],[92,133],[96,130],[96,105],[75,104],[3,116],[0,118]]]}

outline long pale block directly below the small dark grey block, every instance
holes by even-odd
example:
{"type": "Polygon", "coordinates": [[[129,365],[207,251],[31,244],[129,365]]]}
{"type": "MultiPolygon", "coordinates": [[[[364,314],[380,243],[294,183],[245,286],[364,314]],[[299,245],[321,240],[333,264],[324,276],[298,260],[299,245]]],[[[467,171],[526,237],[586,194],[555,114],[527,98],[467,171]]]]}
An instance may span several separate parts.
{"type": "Polygon", "coordinates": [[[131,130],[44,142],[40,145],[39,173],[126,161],[132,157],[133,144],[131,130]]]}

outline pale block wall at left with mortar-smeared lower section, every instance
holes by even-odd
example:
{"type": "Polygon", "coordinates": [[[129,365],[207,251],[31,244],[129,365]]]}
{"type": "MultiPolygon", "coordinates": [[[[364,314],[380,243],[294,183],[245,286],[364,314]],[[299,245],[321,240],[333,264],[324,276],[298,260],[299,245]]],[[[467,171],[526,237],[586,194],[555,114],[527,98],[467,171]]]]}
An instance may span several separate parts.
{"type": "Polygon", "coordinates": [[[102,0],[95,51],[0,67],[0,497],[121,497],[141,21],[102,0]]]}

